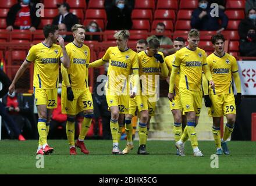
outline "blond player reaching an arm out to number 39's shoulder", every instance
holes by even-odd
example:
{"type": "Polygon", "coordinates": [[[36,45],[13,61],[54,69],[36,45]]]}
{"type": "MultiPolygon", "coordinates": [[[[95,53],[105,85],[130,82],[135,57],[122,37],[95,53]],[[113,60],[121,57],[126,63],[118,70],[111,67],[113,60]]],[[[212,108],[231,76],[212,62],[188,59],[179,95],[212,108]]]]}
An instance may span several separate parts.
{"type": "Polygon", "coordinates": [[[90,63],[89,67],[97,67],[109,62],[105,90],[106,101],[111,110],[112,154],[123,154],[119,149],[119,141],[123,121],[128,113],[129,98],[134,98],[138,90],[138,56],[136,52],[127,47],[130,37],[128,30],[120,30],[114,37],[118,46],[109,47],[103,58],[90,63]],[[134,87],[129,91],[129,75],[131,70],[134,77],[134,87]]]}

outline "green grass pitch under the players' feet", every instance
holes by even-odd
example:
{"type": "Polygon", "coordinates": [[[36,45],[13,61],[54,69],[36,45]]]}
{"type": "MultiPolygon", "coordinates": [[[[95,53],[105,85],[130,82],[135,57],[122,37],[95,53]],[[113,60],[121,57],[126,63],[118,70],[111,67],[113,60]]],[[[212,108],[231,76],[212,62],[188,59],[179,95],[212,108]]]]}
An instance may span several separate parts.
{"type": "MultiPolygon", "coordinates": [[[[148,141],[150,155],[137,155],[138,141],[128,155],[111,155],[112,141],[86,140],[89,155],[69,155],[66,140],[49,140],[54,153],[44,156],[44,169],[35,164],[37,141],[0,141],[0,174],[256,174],[256,142],[230,141],[230,155],[219,156],[219,168],[211,168],[214,141],[199,141],[204,157],[193,157],[190,142],[186,156],[175,155],[173,141],[148,141]]],[[[126,141],[121,141],[121,149],[126,141]]]]}

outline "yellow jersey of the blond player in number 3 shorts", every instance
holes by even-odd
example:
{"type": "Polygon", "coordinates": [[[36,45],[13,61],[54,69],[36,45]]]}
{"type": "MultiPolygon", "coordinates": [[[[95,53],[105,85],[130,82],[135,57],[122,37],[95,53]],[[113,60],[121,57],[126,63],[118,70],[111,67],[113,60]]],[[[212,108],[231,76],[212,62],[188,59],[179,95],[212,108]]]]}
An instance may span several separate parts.
{"type": "Polygon", "coordinates": [[[180,67],[179,88],[200,91],[203,65],[207,65],[204,50],[197,47],[197,49],[191,51],[187,47],[184,47],[177,51],[173,66],[180,67]]]}

